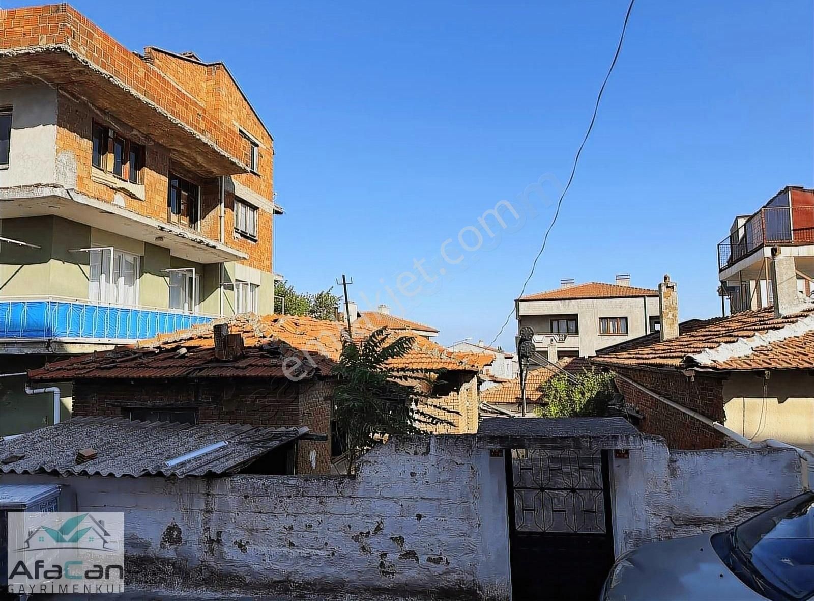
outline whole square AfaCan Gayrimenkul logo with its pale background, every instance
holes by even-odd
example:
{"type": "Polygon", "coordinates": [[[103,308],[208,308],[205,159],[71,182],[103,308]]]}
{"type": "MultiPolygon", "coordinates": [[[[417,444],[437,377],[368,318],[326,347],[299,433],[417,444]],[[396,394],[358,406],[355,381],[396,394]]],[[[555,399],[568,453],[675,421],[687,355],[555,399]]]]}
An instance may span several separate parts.
{"type": "Polygon", "coordinates": [[[11,594],[120,593],[125,584],[123,513],[8,514],[11,594]]]}

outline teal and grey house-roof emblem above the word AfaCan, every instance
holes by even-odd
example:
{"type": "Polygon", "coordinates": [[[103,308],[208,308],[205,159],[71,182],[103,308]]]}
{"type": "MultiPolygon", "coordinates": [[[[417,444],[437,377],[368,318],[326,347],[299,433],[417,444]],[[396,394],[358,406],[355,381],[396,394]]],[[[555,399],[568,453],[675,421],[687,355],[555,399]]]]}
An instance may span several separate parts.
{"type": "MultiPolygon", "coordinates": [[[[47,514],[46,514],[47,515],[47,514]]],[[[53,515],[53,514],[51,514],[53,515]]],[[[50,515],[49,515],[50,517],[50,515]]],[[[93,551],[118,551],[112,541],[112,535],[104,527],[104,520],[93,514],[73,515],[61,524],[37,524],[28,530],[28,537],[23,545],[15,551],[42,551],[46,549],[88,549],[93,551]]]]}

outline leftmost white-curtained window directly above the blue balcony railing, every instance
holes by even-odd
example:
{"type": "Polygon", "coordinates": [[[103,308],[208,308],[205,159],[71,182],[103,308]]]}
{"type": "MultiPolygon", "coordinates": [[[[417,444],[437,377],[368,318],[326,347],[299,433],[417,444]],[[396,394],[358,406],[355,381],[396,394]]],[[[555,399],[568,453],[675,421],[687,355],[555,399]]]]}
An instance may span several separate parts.
{"type": "Polygon", "coordinates": [[[91,301],[138,305],[140,257],[115,248],[91,248],[88,296],[91,301]]]}

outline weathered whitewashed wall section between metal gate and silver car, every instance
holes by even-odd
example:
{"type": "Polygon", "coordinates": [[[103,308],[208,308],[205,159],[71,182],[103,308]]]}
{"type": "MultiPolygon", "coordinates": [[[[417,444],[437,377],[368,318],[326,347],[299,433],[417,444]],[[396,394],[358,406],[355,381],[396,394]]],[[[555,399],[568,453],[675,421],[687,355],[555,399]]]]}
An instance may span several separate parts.
{"type": "Polygon", "coordinates": [[[728,529],[802,491],[793,450],[667,450],[644,436],[611,471],[617,553],[728,529]]]}

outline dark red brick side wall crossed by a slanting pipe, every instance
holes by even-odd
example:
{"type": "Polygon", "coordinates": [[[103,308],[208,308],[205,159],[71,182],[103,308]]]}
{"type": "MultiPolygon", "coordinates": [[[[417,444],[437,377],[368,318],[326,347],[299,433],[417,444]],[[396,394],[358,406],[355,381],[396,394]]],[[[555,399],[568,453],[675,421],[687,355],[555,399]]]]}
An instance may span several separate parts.
{"type": "MultiPolygon", "coordinates": [[[[672,374],[632,369],[615,371],[662,397],[724,423],[723,380],[719,378],[696,375],[694,381],[691,381],[678,372],[672,374]]],[[[723,444],[724,435],[698,419],[641,392],[623,379],[617,378],[616,386],[624,395],[625,401],[644,415],[641,431],[663,436],[670,448],[716,449],[723,444]]]]}

